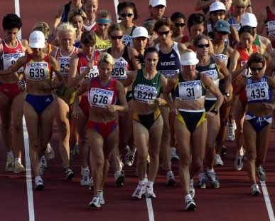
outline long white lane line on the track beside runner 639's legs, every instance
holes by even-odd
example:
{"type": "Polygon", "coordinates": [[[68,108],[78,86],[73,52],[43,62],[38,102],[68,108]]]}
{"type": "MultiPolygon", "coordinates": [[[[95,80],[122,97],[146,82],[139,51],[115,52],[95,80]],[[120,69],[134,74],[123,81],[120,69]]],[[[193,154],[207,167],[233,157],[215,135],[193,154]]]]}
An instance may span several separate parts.
{"type": "Polygon", "coordinates": [[[33,210],[33,183],[31,176],[31,160],[30,151],[28,144],[28,131],[26,128],[25,116],[23,116],[23,136],[25,146],[25,160],[26,160],[26,184],[27,184],[27,195],[28,195],[28,220],[34,221],[34,210],[33,210]]]}

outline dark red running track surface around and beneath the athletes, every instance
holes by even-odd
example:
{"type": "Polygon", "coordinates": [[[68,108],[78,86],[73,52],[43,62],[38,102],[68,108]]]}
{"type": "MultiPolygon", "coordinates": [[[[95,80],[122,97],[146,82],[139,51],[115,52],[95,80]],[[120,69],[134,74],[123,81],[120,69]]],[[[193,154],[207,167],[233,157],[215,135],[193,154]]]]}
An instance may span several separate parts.
{"type": "MultiPolygon", "coordinates": [[[[66,1],[21,1],[21,18],[23,21],[23,38],[28,38],[31,27],[37,21],[51,23],[58,6],[66,1]]],[[[195,1],[168,0],[166,15],[173,11],[183,11],[186,15],[193,11],[195,1]],[[186,3],[188,2],[188,3],[186,3]],[[180,7],[179,7],[180,6],[180,7]]],[[[254,12],[268,4],[268,0],[254,0],[254,12]]],[[[147,18],[147,0],[136,3],[142,18],[147,18]]],[[[108,9],[114,14],[114,2],[100,2],[99,9],[108,9]]],[[[0,14],[14,12],[14,4],[7,1],[1,4],[0,14]]],[[[137,21],[139,24],[142,19],[137,21]]],[[[2,31],[0,36],[2,36],[2,31]]],[[[227,142],[225,166],[215,168],[220,178],[220,189],[198,190],[195,192],[195,202],[198,208],[195,212],[185,212],[184,196],[179,184],[177,163],[173,162],[173,171],[177,183],[174,187],[166,187],[166,176],[161,169],[156,178],[154,189],[156,199],[146,204],[146,200],[132,200],[131,194],[136,187],[135,169],[124,167],[126,182],[123,187],[114,185],[112,170],[107,178],[104,190],[106,205],[99,210],[88,207],[92,192],[87,187],[80,187],[80,157],[74,158],[73,170],[75,179],[65,180],[63,168],[58,153],[58,131],[53,130],[51,141],[56,157],[49,161],[43,180],[45,189],[42,192],[33,191],[33,210],[28,208],[26,175],[16,175],[4,171],[5,152],[0,143],[0,220],[274,220],[275,202],[275,130],[272,130],[269,152],[266,158],[266,190],[268,195],[257,197],[250,195],[250,183],[245,166],[242,171],[235,171],[234,142],[227,142]],[[265,196],[265,197],[264,197],[265,196]],[[270,201],[269,201],[270,200],[270,201]],[[273,209],[272,209],[273,207],[273,209]],[[149,209],[152,209],[149,213],[149,209]]],[[[24,161],[24,157],[23,157],[24,161]]]]}

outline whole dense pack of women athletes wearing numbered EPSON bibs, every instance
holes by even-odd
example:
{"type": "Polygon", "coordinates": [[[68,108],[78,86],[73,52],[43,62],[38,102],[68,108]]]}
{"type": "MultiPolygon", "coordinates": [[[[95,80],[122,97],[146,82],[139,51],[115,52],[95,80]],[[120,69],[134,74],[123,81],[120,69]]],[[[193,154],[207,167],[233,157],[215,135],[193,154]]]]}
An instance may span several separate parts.
{"type": "Polygon", "coordinates": [[[65,178],[74,177],[72,155],[80,153],[80,185],[93,188],[91,207],[105,203],[109,166],[121,186],[123,164],[133,165],[137,156],[132,197],[156,197],[160,159],[166,184],[176,183],[176,158],[185,209],[195,210],[193,178],[198,175],[201,189],[208,180],[220,187],[214,166],[224,164],[225,140],[236,141],[236,170],[247,158],[251,192],[259,195],[256,174],[266,179],[275,108],[275,1],[260,21],[252,6],[198,0],[195,11],[202,13],[166,17],[166,0],[150,0],[149,19],[136,26],[134,2],[118,4],[116,23],[98,0],[72,0],[58,8],[52,26],[33,24],[28,41],[18,39],[21,19],[6,14],[0,43],[5,170],[25,172],[24,115],[36,190],[43,190],[47,160],[54,157],[55,120],[65,178]]]}

